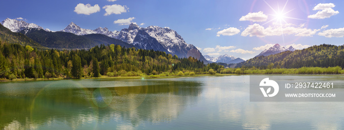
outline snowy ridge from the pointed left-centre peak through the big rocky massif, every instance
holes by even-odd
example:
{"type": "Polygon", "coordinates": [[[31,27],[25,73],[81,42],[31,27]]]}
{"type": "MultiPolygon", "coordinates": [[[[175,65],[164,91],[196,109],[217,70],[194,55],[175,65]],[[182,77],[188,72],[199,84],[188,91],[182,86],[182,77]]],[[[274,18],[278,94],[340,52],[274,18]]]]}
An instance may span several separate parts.
{"type": "Polygon", "coordinates": [[[115,31],[114,33],[108,31],[107,28],[97,28],[95,30],[83,29],[71,22],[65,29],[61,31],[74,33],[76,35],[94,33],[104,34],[132,44],[137,48],[165,51],[166,53],[170,53],[172,55],[175,54],[180,58],[187,58],[191,56],[203,61],[204,63],[208,63],[208,61],[205,60],[201,52],[194,45],[187,44],[176,31],[168,27],[162,28],[159,26],[148,26],[143,28],[137,24],[131,23],[128,28],[124,28],[121,31],[115,31]],[[97,30],[100,31],[97,32],[97,30]]]}

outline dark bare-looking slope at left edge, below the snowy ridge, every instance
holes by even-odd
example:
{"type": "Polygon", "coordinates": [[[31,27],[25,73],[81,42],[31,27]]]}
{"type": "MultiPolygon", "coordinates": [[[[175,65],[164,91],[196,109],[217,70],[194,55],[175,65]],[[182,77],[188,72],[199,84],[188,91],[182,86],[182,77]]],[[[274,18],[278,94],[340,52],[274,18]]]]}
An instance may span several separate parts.
{"type": "Polygon", "coordinates": [[[19,43],[21,45],[30,45],[32,47],[44,48],[37,42],[31,40],[21,33],[15,33],[0,24],[0,41],[7,43],[19,43]]]}

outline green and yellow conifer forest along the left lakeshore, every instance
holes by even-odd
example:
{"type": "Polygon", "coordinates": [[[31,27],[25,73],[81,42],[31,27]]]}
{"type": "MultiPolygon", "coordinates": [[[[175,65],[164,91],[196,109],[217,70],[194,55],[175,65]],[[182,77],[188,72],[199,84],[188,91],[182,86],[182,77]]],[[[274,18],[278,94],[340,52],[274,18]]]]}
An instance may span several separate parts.
{"type": "Polygon", "coordinates": [[[204,65],[162,51],[100,45],[89,50],[37,50],[0,41],[0,78],[194,75],[220,72],[223,66],[204,65]]]}

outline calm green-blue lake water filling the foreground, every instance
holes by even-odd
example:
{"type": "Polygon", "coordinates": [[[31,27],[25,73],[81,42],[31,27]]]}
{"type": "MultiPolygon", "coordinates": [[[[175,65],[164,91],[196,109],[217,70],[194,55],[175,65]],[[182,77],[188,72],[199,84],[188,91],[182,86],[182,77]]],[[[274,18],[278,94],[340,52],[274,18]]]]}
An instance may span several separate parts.
{"type": "MultiPolygon", "coordinates": [[[[344,86],[341,75],[299,77],[344,86]]],[[[249,81],[241,75],[0,83],[0,129],[344,129],[344,102],[250,102],[249,81]]]]}

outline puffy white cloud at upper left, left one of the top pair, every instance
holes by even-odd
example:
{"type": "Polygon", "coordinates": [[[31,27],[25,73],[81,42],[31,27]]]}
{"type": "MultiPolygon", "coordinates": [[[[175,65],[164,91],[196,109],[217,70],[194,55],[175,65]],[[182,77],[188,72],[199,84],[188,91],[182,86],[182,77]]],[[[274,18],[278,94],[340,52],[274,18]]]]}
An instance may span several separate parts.
{"type": "Polygon", "coordinates": [[[91,6],[90,4],[83,4],[79,3],[77,6],[75,6],[74,12],[77,14],[84,14],[84,15],[90,15],[96,12],[100,11],[100,7],[98,4],[95,4],[94,6],[91,6]]]}

